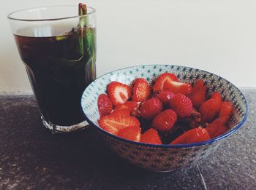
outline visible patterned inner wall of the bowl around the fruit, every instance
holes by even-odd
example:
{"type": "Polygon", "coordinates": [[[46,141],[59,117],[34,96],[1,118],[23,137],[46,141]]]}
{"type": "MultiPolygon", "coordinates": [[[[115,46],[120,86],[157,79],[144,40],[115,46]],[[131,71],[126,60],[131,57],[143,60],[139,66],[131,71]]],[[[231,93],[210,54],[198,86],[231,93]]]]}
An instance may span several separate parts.
{"type": "Polygon", "coordinates": [[[166,72],[176,74],[181,82],[187,82],[190,84],[193,84],[198,79],[203,79],[208,87],[208,97],[213,92],[218,91],[221,93],[224,100],[228,100],[233,103],[233,114],[228,122],[230,130],[225,134],[231,134],[232,130],[237,130],[239,123],[244,122],[247,111],[246,99],[235,85],[228,82],[226,79],[223,79],[215,74],[211,74],[207,71],[185,66],[172,65],[133,66],[112,71],[108,74],[100,76],[94,82],[89,84],[82,95],[81,105],[87,120],[89,120],[91,124],[94,124],[94,127],[102,130],[97,122],[99,119],[97,98],[101,93],[106,93],[107,85],[110,82],[118,81],[129,85],[134,79],[140,77],[147,79],[147,81],[151,83],[157,78],[157,76],[166,72]]]}

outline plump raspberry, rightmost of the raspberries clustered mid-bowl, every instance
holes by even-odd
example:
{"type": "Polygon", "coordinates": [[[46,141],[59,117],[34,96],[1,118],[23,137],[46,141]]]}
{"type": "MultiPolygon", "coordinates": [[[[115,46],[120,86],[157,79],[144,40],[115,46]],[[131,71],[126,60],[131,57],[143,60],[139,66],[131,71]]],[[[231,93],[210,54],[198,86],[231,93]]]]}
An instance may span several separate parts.
{"type": "Polygon", "coordinates": [[[193,110],[192,101],[183,94],[173,96],[170,100],[170,108],[181,118],[190,116],[193,110]]]}

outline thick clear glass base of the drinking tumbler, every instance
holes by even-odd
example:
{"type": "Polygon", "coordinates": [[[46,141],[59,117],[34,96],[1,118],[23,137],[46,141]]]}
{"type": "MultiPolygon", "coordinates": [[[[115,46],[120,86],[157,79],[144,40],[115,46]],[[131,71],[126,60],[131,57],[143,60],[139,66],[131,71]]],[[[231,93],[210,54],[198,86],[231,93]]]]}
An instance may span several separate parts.
{"type": "Polygon", "coordinates": [[[45,127],[50,130],[53,134],[56,132],[61,133],[68,133],[68,132],[75,132],[78,130],[84,130],[89,127],[89,123],[86,121],[80,122],[78,124],[72,124],[70,126],[61,126],[57,124],[53,124],[51,122],[46,122],[43,115],[41,115],[42,124],[45,125],[45,127]]]}

